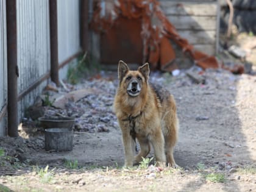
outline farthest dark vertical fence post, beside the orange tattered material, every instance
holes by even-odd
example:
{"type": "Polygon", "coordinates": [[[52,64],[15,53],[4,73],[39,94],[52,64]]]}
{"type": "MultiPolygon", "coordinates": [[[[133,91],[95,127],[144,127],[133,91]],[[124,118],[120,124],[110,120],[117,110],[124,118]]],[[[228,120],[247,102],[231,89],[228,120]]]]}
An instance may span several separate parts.
{"type": "Polygon", "coordinates": [[[80,45],[83,51],[88,51],[88,9],[89,1],[80,0],[80,45]]]}

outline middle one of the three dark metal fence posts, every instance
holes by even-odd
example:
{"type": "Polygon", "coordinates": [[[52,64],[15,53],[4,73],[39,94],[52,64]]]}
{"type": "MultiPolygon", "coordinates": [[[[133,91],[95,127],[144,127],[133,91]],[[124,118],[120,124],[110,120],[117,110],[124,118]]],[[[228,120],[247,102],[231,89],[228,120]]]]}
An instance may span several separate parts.
{"type": "Polygon", "coordinates": [[[57,0],[49,0],[51,40],[51,80],[59,86],[57,0]]]}

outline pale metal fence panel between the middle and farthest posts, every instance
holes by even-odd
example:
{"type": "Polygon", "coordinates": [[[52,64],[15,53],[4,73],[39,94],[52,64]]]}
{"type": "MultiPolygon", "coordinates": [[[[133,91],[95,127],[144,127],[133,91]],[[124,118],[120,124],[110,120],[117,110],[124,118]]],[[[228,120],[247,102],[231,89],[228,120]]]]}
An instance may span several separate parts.
{"type": "Polygon", "coordinates": [[[80,51],[79,0],[57,0],[59,63],[80,51]]]}

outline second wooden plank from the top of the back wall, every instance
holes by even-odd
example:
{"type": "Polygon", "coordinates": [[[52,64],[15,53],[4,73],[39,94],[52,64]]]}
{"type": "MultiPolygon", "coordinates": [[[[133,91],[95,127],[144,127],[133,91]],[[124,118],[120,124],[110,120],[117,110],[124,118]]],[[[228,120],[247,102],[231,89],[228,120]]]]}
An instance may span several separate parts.
{"type": "Polygon", "coordinates": [[[177,30],[216,30],[216,16],[167,16],[177,30]]]}

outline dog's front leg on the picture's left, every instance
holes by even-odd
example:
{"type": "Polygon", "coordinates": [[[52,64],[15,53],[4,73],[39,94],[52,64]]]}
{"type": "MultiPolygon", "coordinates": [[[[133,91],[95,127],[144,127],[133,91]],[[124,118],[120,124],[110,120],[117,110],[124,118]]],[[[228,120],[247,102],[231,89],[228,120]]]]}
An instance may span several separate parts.
{"type": "Polygon", "coordinates": [[[122,133],[123,133],[123,144],[124,144],[124,155],[125,155],[124,166],[131,167],[133,166],[134,141],[130,136],[130,132],[127,129],[122,130],[122,133]]]}

